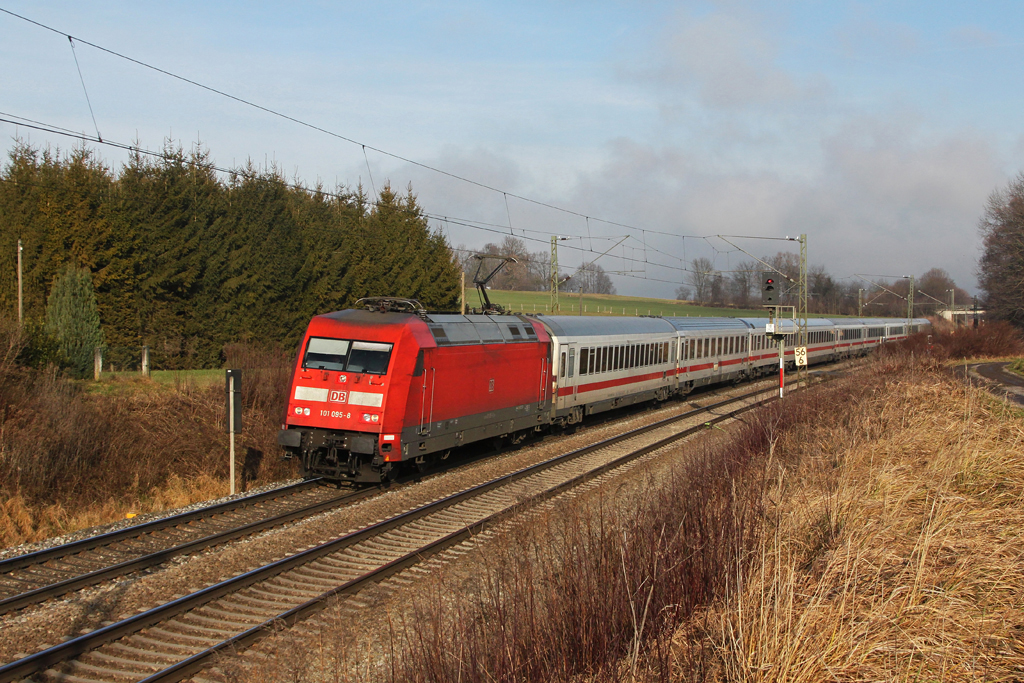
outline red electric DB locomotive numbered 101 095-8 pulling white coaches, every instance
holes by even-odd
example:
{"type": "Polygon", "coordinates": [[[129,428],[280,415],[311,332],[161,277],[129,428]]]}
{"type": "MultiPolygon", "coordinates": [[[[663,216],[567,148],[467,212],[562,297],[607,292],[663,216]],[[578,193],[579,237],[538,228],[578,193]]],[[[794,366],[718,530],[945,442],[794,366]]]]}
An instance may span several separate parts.
{"type": "Polygon", "coordinates": [[[426,313],[408,300],[360,303],[313,317],[302,341],[278,441],[304,475],[387,481],[403,463],[549,422],[542,326],[426,313]]]}

